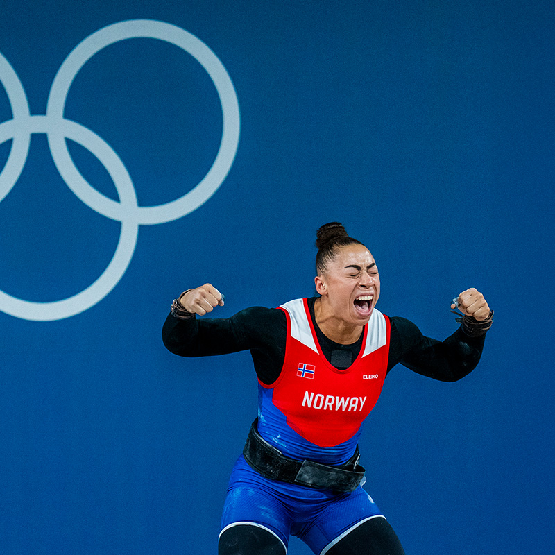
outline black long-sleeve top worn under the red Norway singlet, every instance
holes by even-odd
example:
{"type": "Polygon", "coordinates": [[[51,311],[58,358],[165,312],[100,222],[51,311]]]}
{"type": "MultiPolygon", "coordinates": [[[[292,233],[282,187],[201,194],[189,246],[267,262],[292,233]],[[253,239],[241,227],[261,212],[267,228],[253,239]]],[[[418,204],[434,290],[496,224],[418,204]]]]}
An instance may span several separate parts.
{"type": "MultiPolygon", "coordinates": [[[[339,370],[355,361],[362,336],[352,345],[328,339],[316,324],[314,301],[309,310],[323,354],[339,370]]],[[[459,327],[445,341],[422,335],[406,318],[393,316],[389,341],[388,371],[400,363],[414,372],[455,382],[477,366],[484,348],[485,334],[470,337],[459,327]]],[[[250,307],[230,318],[180,319],[169,314],[162,328],[162,340],[168,350],[182,357],[226,355],[250,350],[259,380],[273,384],[282,370],[287,340],[287,317],[275,308],[250,307]]]]}

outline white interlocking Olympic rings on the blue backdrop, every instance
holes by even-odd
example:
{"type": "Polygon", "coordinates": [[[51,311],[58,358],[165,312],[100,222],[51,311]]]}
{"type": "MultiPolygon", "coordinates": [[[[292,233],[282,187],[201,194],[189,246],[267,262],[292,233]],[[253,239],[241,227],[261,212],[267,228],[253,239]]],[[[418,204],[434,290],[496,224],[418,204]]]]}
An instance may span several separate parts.
{"type": "Polygon", "coordinates": [[[206,44],[184,29],[168,23],[135,19],[106,26],[89,35],[62,62],[50,89],[46,115],[33,116],[29,113],[23,85],[1,53],[0,83],[6,89],[12,109],[12,119],[0,124],[0,144],[12,139],[8,160],[0,173],[0,202],[19,180],[27,160],[31,134],[45,133],[56,169],[69,189],[92,210],[121,222],[119,242],[110,264],[94,283],[80,293],[54,302],[31,302],[0,290],[0,310],[17,318],[61,320],[96,305],[126,272],[137,244],[139,225],[173,221],[203,205],[225,180],[237,153],[239,103],[228,72],[206,44]],[[163,40],[191,54],[212,79],[223,112],[221,143],[212,167],[194,189],[162,205],[139,206],[133,181],[110,145],[89,128],[64,117],[69,87],[87,60],[106,46],[130,38],[163,40]],[[71,160],[65,139],[84,146],[103,164],[117,189],[119,202],[89,185],[71,160]]]}

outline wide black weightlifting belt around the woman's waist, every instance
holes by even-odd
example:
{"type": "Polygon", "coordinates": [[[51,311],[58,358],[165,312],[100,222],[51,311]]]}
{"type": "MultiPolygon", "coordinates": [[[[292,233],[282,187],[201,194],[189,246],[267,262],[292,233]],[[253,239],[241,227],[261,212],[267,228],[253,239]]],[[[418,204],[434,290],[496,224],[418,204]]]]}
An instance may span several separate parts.
{"type": "Polygon", "coordinates": [[[248,464],[265,478],[338,492],[354,491],[364,479],[365,469],[359,465],[358,445],[355,454],[341,466],[297,461],[265,441],[258,433],[257,422],[258,418],[250,427],[243,455],[248,464]]]}

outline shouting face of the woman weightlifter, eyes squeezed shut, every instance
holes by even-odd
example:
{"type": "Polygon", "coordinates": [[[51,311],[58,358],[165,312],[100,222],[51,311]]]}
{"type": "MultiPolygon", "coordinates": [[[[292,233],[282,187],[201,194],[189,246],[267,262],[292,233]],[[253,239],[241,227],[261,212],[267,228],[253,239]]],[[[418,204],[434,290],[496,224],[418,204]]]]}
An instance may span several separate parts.
{"type": "Polygon", "coordinates": [[[364,245],[339,248],[315,283],[335,318],[351,325],[368,323],[379,297],[379,274],[364,245]]]}

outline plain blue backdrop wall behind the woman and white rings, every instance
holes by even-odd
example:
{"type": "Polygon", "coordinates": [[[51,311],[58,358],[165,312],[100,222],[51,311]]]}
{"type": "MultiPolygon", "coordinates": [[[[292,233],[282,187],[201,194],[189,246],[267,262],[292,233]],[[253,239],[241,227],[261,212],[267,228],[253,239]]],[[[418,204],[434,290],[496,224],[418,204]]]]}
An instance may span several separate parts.
{"type": "Polygon", "coordinates": [[[171,355],[162,323],[207,281],[223,317],[311,295],[315,231],[333,220],[372,250],[386,314],[443,339],[459,291],[496,311],[474,373],[443,384],[399,366],[366,424],[367,488],[407,554],[551,552],[554,19],[547,1],[4,1],[0,169],[25,164],[12,183],[0,174],[0,552],[216,552],[255,375],[248,353],[171,355]],[[165,223],[139,221],[133,189],[140,206],[194,189],[223,130],[192,56],[133,38],[76,73],[67,144],[112,218],[56,169],[44,131],[68,135],[67,122],[21,117],[6,91],[19,78],[44,116],[69,53],[129,19],[198,37],[239,102],[221,187],[165,223]],[[87,130],[108,146],[87,150],[87,130]],[[118,186],[100,151],[121,160],[118,186]],[[113,289],[33,319],[103,274],[117,216],[130,262],[113,289]]]}

